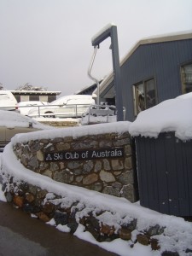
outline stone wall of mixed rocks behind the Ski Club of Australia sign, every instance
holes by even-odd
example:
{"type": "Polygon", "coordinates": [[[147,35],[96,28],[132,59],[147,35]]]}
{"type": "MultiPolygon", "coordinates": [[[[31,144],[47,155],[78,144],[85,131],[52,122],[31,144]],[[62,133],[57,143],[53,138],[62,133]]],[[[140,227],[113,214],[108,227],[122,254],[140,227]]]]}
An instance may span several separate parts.
{"type": "MultiPolygon", "coordinates": [[[[137,200],[134,187],[133,155],[131,137],[128,132],[117,132],[73,137],[55,137],[27,143],[16,143],[15,154],[26,168],[51,177],[55,181],[96,190],[108,195],[137,200]],[[96,157],[75,160],[74,154],[89,150],[123,150],[122,157],[96,157]],[[66,154],[67,160],[47,161],[45,154],[66,154]]],[[[107,152],[107,153],[105,153],[107,152]]],[[[101,154],[101,152],[100,152],[101,154]]]]}

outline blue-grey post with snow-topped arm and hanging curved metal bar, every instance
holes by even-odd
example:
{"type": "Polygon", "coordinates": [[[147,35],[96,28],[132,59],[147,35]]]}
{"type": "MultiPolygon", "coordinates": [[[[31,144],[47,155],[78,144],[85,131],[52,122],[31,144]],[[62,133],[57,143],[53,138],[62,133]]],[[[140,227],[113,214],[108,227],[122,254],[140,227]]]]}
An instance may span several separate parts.
{"type": "MultiPolygon", "coordinates": [[[[95,52],[92,58],[92,62],[90,63],[90,70],[93,64],[93,61],[96,56],[96,50],[99,48],[99,44],[102,43],[108,37],[111,38],[111,46],[112,49],[112,58],[113,58],[113,81],[114,81],[114,90],[115,90],[115,101],[117,108],[117,121],[123,121],[123,104],[122,104],[122,91],[121,91],[121,78],[120,78],[120,66],[119,66],[119,47],[118,47],[118,36],[117,36],[117,26],[113,23],[108,24],[103,27],[100,32],[97,32],[96,35],[91,39],[92,45],[95,48],[95,52]]],[[[90,71],[89,70],[89,71],[90,71]]],[[[89,73],[90,75],[90,73],[89,73]]],[[[91,79],[94,79],[90,76],[91,79]]],[[[97,101],[99,102],[99,84],[96,79],[94,79],[97,84],[97,101]]]]}

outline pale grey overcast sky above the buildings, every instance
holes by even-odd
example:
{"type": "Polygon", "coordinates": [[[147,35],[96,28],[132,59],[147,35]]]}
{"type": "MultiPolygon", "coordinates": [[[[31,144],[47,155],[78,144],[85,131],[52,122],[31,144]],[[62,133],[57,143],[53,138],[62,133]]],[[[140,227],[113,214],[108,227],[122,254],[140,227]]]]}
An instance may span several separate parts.
{"type": "MultiPolygon", "coordinates": [[[[0,0],[0,83],[26,83],[73,94],[87,76],[91,38],[108,23],[118,28],[119,58],[138,40],[192,30],[192,0],[0,0]]],[[[92,74],[112,70],[110,38],[100,45],[92,74]]]]}

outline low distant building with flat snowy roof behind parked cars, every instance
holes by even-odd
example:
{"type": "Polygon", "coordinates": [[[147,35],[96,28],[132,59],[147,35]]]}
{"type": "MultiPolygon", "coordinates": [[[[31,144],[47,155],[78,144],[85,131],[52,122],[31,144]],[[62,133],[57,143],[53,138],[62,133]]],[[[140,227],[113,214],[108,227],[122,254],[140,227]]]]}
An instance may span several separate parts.
{"type": "Polygon", "coordinates": [[[17,102],[40,101],[53,102],[61,91],[46,90],[11,90],[17,102]]]}

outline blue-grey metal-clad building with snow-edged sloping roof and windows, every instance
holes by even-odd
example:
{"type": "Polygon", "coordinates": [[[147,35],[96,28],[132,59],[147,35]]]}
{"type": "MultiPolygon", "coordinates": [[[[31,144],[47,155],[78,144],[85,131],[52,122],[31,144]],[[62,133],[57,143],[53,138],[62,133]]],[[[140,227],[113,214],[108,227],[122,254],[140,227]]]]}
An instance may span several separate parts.
{"type": "MultiPolygon", "coordinates": [[[[120,73],[129,121],[140,111],[192,91],[192,32],[139,41],[120,61],[120,73]]],[[[100,99],[115,104],[113,73],[100,84],[100,99]]]]}

